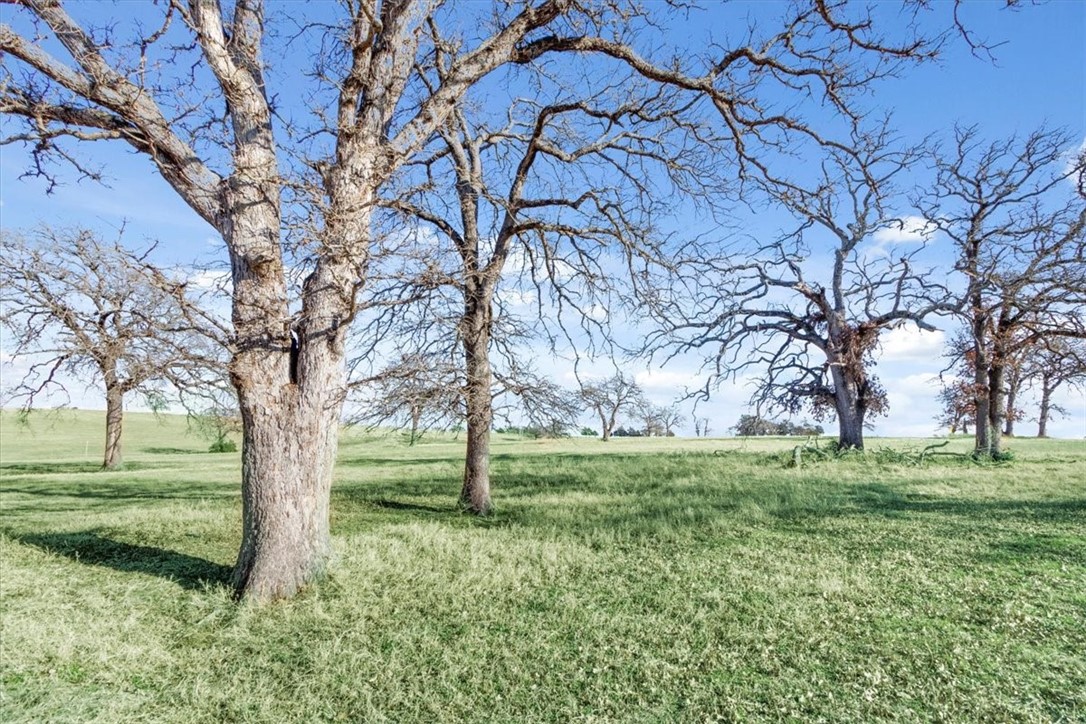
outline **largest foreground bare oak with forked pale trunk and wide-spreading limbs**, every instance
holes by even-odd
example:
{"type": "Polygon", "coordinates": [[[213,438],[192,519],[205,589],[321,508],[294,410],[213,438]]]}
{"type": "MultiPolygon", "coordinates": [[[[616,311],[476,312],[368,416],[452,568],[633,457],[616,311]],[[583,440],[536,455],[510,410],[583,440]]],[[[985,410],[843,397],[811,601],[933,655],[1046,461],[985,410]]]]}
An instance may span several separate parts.
{"type": "Polygon", "coordinates": [[[0,25],[0,112],[24,120],[4,141],[28,145],[31,173],[67,160],[92,177],[72,142],[127,143],[226,242],[244,427],[233,577],[260,600],[292,595],[328,559],[344,338],[380,190],[482,78],[591,54],[708,99],[746,161],[759,144],[813,134],[799,105],[772,99],[855,116],[869,81],[937,49],[911,27],[892,40],[864,10],[821,1],[682,56],[669,56],[662,17],[603,0],[349,0],[289,16],[261,0],[171,0],[99,27],[87,20],[96,4],[72,9],[17,0],[0,25]]]}

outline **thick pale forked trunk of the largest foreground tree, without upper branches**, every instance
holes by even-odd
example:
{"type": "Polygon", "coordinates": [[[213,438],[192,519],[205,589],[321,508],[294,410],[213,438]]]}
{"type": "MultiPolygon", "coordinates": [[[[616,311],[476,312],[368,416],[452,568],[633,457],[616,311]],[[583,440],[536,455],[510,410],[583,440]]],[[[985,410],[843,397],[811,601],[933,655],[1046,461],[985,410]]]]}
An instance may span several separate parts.
{"type": "MultiPolygon", "coordinates": [[[[253,162],[239,154],[236,163],[253,162]]],[[[274,168],[274,155],[263,165],[274,168]]],[[[268,178],[275,178],[270,172],[268,178]]],[[[319,577],[331,550],[329,497],[345,391],[343,336],[362,278],[368,216],[350,217],[350,228],[337,217],[336,228],[326,230],[355,256],[343,252],[321,258],[305,281],[300,314],[291,317],[278,189],[238,182],[231,191],[233,211],[224,230],[233,276],[230,376],[244,430],[242,539],[233,584],[239,598],[268,601],[290,597],[319,577]]]]}

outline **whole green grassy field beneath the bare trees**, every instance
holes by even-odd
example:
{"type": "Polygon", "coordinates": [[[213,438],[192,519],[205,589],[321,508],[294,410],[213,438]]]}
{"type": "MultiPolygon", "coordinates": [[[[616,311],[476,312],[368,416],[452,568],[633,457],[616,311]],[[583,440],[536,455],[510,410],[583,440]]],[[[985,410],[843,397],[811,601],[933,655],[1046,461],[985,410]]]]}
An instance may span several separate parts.
{"type": "MultiPolygon", "coordinates": [[[[2,415],[8,722],[1086,721],[1086,443],[788,467],[794,440],[344,433],[321,585],[231,601],[239,457],[2,415]]],[[[969,449],[956,440],[949,448],[969,449]]]]}

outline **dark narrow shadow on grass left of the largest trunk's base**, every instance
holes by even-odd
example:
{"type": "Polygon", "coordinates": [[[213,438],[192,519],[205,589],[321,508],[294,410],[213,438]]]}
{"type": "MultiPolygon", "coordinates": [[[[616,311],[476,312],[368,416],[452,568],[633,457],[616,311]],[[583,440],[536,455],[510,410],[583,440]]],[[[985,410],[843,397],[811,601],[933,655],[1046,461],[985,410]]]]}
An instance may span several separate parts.
{"type": "Polygon", "coordinates": [[[12,538],[39,550],[64,556],[79,563],[102,566],[125,573],[147,573],[174,581],[182,588],[230,582],[231,569],[176,550],[137,546],[102,537],[93,531],[78,533],[24,533],[12,538]]]}

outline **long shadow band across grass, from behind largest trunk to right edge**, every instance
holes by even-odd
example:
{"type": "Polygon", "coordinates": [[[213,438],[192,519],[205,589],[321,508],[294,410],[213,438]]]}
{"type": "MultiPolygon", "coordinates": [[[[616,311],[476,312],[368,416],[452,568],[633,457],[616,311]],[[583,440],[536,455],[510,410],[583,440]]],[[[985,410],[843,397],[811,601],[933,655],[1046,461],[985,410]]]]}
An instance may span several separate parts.
{"type": "MultiPolygon", "coordinates": [[[[682,460],[678,460],[682,462],[682,460]]],[[[644,468],[644,466],[643,466],[644,468]]],[[[958,531],[963,522],[974,531],[1000,535],[1010,521],[1066,524],[1083,520],[1086,500],[955,498],[910,491],[886,483],[833,483],[785,480],[735,483],[720,471],[704,482],[691,482],[690,467],[660,466],[634,479],[614,478],[606,467],[573,469],[496,466],[495,515],[484,521],[459,520],[453,510],[459,480],[399,478],[340,487],[337,497],[355,504],[341,523],[346,528],[375,520],[409,519],[455,525],[516,526],[564,531],[573,535],[610,530],[628,536],[654,536],[686,530],[721,531],[750,520],[762,524],[824,532],[833,519],[870,518],[925,522],[958,531]],[[718,480],[719,479],[719,480],[718,480]],[[449,507],[434,504],[447,499],[449,507]],[[356,520],[352,520],[357,517],[356,520]],[[992,530],[988,530],[992,529],[992,530]]],[[[725,471],[727,472],[727,471],[725,471]]],[[[350,508],[349,508],[350,510],[350,508]]],[[[940,533],[942,534],[942,533],[940,533]]],[[[995,538],[994,538],[995,539],[995,538]]],[[[1040,546],[1036,551],[1046,551],[1040,546]]],[[[1023,551],[1009,551],[1022,557],[1023,551]]]]}

